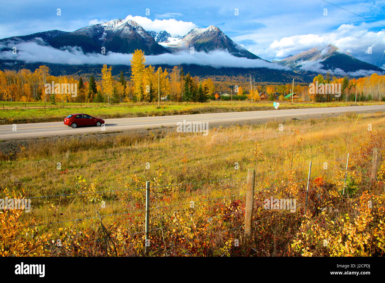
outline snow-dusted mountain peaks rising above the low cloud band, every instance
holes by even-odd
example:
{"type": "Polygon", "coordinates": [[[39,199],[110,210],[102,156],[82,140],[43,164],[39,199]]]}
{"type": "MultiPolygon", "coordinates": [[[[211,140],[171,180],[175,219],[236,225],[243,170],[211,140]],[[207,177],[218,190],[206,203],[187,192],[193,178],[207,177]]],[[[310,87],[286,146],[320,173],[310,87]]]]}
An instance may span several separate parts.
{"type": "MultiPolygon", "coordinates": [[[[190,51],[190,53],[191,50],[194,50],[194,52],[206,52],[210,54],[210,52],[213,51],[223,50],[235,57],[260,59],[259,62],[263,60],[241,47],[218,27],[213,25],[206,28],[193,28],[186,35],[179,36],[172,35],[164,30],[161,32],[147,32],[141,25],[133,20],[116,19],[83,27],[74,32],[50,30],[0,39],[0,51],[5,51],[7,49],[7,42],[10,41],[16,43],[34,41],[40,45],[47,45],[59,50],[66,50],[68,47],[78,47],[81,48],[85,54],[100,54],[103,48],[105,48],[106,53],[114,52],[121,54],[131,54],[136,49],[141,49],[145,55],[178,54],[183,50],[190,51]],[[37,41],[37,38],[43,41],[37,41]]],[[[2,61],[14,62],[15,60],[2,61]]],[[[263,62],[264,64],[272,64],[271,68],[264,68],[266,72],[274,73],[275,75],[280,73],[281,78],[285,78],[284,80],[295,74],[296,76],[302,75],[305,79],[305,77],[311,77],[314,74],[325,72],[325,70],[342,74],[344,72],[357,72],[359,70],[377,71],[378,69],[377,66],[358,60],[351,54],[341,52],[338,47],[331,44],[314,47],[297,55],[289,55],[280,61],[273,60],[273,62],[270,63],[267,60],[263,60],[263,62]],[[273,64],[280,67],[275,68],[273,64]],[[282,66],[287,68],[282,69],[282,66]],[[290,69],[292,71],[290,71],[290,69]]],[[[164,62],[164,64],[167,64],[167,62],[164,62]]],[[[186,64],[187,68],[188,65],[189,64],[186,64]]],[[[254,69],[261,69],[262,67],[254,69]]],[[[194,67],[192,69],[197,72],[195,75],[201,75],[199,68],[194,67]]],[[[201,69],[203,69],[203,67],[201,67],[201,69]]],[[[226,68],[209,69],[221,69],[221,72],[218,71],[219,73],[226,73],[226,68]]],[[[384,71],[382,69],[378,70],[380,72],[384,71]]],[[[213,73],[218,72],[213,70],[213,73]]],[[[267,74],[266,77],[271,77],[271,74],[267,74]]],[[[280,78],[278,78],[278,80],[279,79],[280,78]]]]}

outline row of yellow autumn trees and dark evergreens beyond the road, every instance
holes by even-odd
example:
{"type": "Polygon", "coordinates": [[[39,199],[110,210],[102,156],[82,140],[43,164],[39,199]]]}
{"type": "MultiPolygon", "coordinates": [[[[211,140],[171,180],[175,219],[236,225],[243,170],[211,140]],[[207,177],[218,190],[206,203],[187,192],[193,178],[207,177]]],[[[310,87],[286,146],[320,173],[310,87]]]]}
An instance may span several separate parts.
{"type": "MultiPolygon", "coordinates": [[[[146,64],[146,57],[142,50],[132,54],[131,74],[125,77],[123,71],[117,77],[112,76],[112,66],[103,65],[101,78],[95,80],[90,75],[83,80],[80,76],[50,74],[49,67],[42,65],[34,72],[22,69],[0,70],[0,100],[18,102],[107,102],[119,103],[121,101],[146,101],[174,100],[178,102],[206,102],[209,99],[221,100],[259,100],[259,94],[264,92],[269,100],[278,96],[283,100],[286,94],[294,92],[300,100],[328,102],[328,101],[357,101],[385,100],[385,75],[372,74],[369,77],[349,79],[348,77],[331,77],[328,72],[325,76],[317,75],[313,79],[318,84],[341,84],[341,96],[334,94],[310,94],[309,84],[256,84],[255,78],[249,76],[249,83],[236,85],[234,82],[224,84],[213,82],[211,78],[199,78],[188,72],[185,74],[181,66],[174,66],[171,70],[146,64]],[[77,95],[70,93],[47,93],[45,85],[51,84],[77,84],[77,95]],[[228,95],[220,95],[226,92],[228,95]],[[278,95],[277,95],[278,93],[278,95]]],[[[236,79],[232,78],[236,81],[236,79]]]]}

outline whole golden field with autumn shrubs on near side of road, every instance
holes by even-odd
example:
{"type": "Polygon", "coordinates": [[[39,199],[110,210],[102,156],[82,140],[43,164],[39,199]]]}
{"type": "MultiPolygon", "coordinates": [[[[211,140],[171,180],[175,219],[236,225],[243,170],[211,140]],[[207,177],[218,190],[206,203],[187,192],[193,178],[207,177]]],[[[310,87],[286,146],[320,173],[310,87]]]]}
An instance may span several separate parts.
{"type": "MultiPolygon", "coordinates": [[[[385,113],[360,115],[353,130],[356,119],[355,113],[348,113],[320,120],[233,126],[214,129],[208,136],[151,131],[144,136],[121,134],[113,139],[92,135],[54,142],[42,139],[16,155],[1,156],[0,174],[7,176],[1,180],[2,187],[7,188],[3,196],[22,189],[27,192],[26,198],[74,194],[32,199],[32,213],[26,213],[23,219],[37,224],[61,222],[39,226],[46,227],[41,241],[61,239],[65,245],[54,246],[54,251],[39,250],[40,255],[143,255],[145,196],[144,189],[137,188],[144,188],[146,181],[151,181],[152,187],[151,255],[382,255],[383,239],[372,238],[370,244],[357,239],[355,244],[343,238],[342,244],[352,248],[339,246],[338,233],[348,229],[344,226],[347,215],[358,223],[356,226],[363,225],[361,232],[350,231],[354,237],[362,231],[383,234],[383,230],[373,231],[384,228],[384,185],[370,183],[368,172],[373,147],[385,148],[385,113]],[[283,131],[279,130],[280,123],[283,131]],[[372,131],[368,131],[368,124],[372,131]],[[341,196],[341,178],[348,152],[346,198],[341,196]],[[300,203],[309,161],[314,164],[314,178],[306,221],[301,216],[303,206],[296,213],[266,211],[257,206],[254,220],[258,223],[253,225],[249,247],[254,251],[234,246],[234,240],[243,239],[247,169],[255,168],[257,174],[264,174],[256,178],[256,204],[269,196],[297,196],[300,203]],[[328,162],[327,169],[324,162],[328,162]],[[235,169],[236,163],[239,169],[235,169]],[[273,171],[278,172],[268,174],[273,171]],[[227,180],[210,182],[219,179],[227,180]],[[365,219],[357,214],[357,205],[365,205],[367,191],[373,194],[375,203],[371,220],[367,214],[365,219]],[[99,211],[102,200],[106,207],[99,211]],[[191,201],[196,202],[194,208],[189,206],[191,201]],[[321,211],[325,206],[334,209],[331,218],[321,211]],[[98,213],[116,215],[99,219],[98,213]],[[70,221],[82,218],[91,219],[70,221]],[[339,221],[336,228],[328,226],[330,221],[339,221]],[[320,234],[308,232],[314,225],[318,225],[315,231],[320,234]],[[104,226],[114,239],[113,245],[104,243],[104,226]],[[301,232],[310,236],[302,237],[301,232]],[[322,246],[325,235],[330,238],[330,250],[322,246]],[[309,243],[309,237],[313,237],[313,243],[309,243]]],[[[21,238],[30,241],[28,235],[21,238]]],[[[31,242],[32,246],[40,243],[31,242]]]]}

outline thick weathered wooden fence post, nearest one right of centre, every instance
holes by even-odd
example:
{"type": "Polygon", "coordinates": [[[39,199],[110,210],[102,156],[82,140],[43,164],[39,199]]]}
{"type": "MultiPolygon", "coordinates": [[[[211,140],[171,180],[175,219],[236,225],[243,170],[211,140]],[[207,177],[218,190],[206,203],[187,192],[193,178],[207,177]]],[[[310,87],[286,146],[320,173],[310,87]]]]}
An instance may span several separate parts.
{"type": "Polygon", "coordinates": [[[246,191],[246,206],[244,216],[244,241],[245,244],[251,240],[251,226],[253,224],[253,208],[254,208],[254,183],[255,170],[248,169],[247,171],[247,191],[246,191]]]}

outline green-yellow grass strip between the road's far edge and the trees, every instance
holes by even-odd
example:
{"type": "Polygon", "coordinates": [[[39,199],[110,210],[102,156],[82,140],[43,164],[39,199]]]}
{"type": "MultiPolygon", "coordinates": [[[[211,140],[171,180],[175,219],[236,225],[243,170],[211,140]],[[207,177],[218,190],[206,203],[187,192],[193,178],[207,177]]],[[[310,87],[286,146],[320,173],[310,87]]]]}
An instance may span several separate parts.
{"type": "MultiPolygon", "coordinates": [[[[353,102],[335,103],[281,103],[280,109],[298,109],[314,107],[338,107],[349,106],[353,102]]],[[[385,102],[358,102],[357,105],[378,105],[385,102]]],[[[354,103],[353,103],[354,104],[354,103]]],[[[85,104],[87,105],[87,104],[85,104]]],[[[271,103],[207,103],[207,104],[163,104],[160,108],[157,105],[136,105],[136,106],[93,106],[74,108],[49,108],[49,109],[0,109],[0,124],[23,124],[33,122],[58,122],[72,113],[87,113],[102,119],[143,117],[143,116],[165,116],[179,114],[199,114],[218,112],[238,111],[259,111],[274,109],[271,103]]]]}

